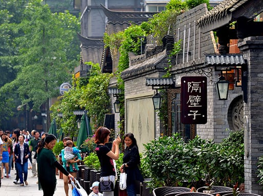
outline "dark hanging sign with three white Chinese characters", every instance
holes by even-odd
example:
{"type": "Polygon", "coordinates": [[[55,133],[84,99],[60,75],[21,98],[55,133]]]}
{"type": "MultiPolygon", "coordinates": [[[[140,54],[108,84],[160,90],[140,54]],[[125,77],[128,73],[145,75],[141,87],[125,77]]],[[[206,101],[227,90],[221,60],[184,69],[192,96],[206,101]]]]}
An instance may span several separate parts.
{"type": "Polygon", "coordinates": [[[181,78],[181,121],[183,124],[207,123],[207,78],[181,78]]]}

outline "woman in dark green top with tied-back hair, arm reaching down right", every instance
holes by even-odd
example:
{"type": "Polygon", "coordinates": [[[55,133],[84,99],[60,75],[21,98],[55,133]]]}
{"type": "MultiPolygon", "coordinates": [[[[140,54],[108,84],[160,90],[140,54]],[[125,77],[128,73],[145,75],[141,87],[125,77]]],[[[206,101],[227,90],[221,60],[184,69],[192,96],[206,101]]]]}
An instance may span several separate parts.
{"type": "Polygon", "coordinates": [[[52,152],[55,143],[56,137],[53,134],[48,134],[41,140],[37,150],[38,185],[43,189],[44,196],[52,196],[55,192],[56,168],[74,180],[74,177],[57,162],[52,152]]]}

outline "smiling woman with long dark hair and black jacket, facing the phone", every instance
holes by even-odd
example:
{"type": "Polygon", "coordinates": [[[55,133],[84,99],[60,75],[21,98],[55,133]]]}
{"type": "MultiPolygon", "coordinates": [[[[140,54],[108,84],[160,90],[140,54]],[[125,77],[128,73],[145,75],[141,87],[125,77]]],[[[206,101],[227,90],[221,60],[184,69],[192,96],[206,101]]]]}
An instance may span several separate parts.
{"type": "Polygon", "coordinates": [[[123,156],[123,165],[120,166],[120,172],[127,174],[127,194],[128,196],[136,196],[135,181],[143,182],[144,178],[140,173],[140,155],[136,139],[132,133],[127,133],[124,136],[126,149],[123,156]]]}

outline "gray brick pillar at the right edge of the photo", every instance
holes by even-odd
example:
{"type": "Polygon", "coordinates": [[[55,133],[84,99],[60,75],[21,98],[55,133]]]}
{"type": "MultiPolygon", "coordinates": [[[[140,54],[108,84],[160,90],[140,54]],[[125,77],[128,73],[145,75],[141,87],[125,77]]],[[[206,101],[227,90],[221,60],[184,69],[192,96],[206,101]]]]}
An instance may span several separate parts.
{"type": "Polygon", "coordinates": [[[258,157],[263,155],[262,92],[263,92],[263,37],[248,37],[238,43],[248,63],[248,103],[244,105],[245,126],[245,184],[249,192],[263,194],[256,177],[258,157]]]}

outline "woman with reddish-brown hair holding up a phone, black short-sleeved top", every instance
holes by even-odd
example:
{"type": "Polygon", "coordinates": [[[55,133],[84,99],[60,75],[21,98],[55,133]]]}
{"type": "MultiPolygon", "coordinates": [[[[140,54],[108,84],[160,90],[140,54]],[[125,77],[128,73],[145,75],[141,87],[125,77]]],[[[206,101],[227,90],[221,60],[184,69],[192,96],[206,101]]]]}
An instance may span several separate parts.
{"type": "MultiPolygon", "coordinates": [[[[110,130],[106,127],[99,127],[95,133],[95,151],[100,162],[100,179],[99,181],[110,180],[115,185],[115,169],[113,159],[119,158],[119,136],[112,142],[112,150],[105,145],[110,139],[110,130]]],[[[103,196],[113,196],[113,191],[103,192],[103,196]]]]}

